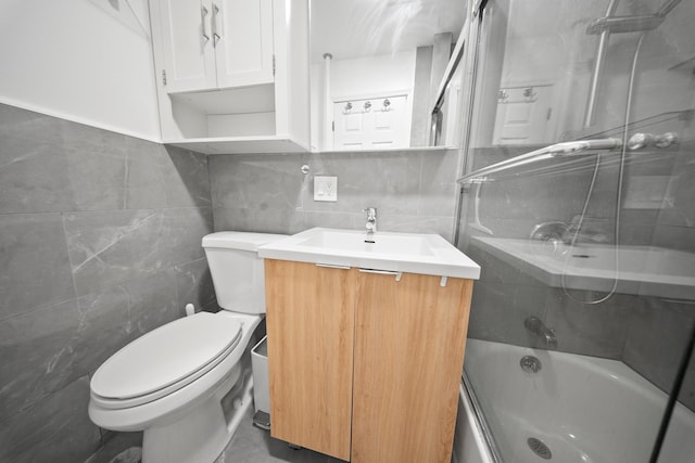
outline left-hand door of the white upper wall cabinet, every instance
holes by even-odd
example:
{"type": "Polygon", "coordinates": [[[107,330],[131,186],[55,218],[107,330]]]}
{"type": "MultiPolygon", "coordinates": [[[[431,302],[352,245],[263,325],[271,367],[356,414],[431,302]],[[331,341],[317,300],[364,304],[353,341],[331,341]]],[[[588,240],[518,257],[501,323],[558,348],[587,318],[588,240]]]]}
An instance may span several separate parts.
{"type": "Polygon", "coordinates": [[[152,5],[159,9],[153,17],[161,21],[166,91],[215,88],[212,0],[159,0],[152,5]]]}

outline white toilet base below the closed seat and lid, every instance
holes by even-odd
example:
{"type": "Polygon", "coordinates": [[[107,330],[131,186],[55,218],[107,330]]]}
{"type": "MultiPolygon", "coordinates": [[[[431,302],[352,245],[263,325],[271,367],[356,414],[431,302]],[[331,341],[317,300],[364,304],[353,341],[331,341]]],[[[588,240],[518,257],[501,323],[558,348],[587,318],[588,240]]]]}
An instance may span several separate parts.
{"type": "Polygon", "coordinates": [[[253,380],[249,377],[229,419],[225,417],[223,397],[214,395],[180,420],[144,429],[142,463],[213,463],[251,407],[252,389],[253,380]]]}

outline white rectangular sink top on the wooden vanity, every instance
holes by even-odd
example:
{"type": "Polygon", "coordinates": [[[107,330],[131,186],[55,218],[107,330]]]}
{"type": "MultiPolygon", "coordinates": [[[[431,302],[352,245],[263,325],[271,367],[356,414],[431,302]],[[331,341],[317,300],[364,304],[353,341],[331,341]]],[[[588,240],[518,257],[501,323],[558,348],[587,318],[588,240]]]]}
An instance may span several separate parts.
{"type": "Polygon", "coordinates": [[[315,228],[258,249],[263,258],[477,280],[480,267],[438,234],[315,228]],[[366,240],[374,241],[368,243],[366,240]]]}

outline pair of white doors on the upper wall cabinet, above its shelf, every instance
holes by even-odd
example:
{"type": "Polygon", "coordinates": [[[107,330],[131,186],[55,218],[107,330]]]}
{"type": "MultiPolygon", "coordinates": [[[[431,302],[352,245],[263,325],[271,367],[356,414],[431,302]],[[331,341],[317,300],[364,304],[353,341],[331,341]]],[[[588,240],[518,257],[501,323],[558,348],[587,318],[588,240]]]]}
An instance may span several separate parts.
{"type": "Polygon", "coordinates": [[[162,0],[153,5],[164,36],[168,93],[273,82],[271,0],[162,0]]]}

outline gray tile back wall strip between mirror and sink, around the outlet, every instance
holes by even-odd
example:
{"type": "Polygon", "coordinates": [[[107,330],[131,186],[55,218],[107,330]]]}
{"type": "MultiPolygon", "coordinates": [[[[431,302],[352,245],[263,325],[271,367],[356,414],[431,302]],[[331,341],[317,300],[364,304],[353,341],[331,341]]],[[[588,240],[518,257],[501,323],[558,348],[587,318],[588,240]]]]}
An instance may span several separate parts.
{"type": "Polygon", "coordinates": [[[383,231],[452,237],[456,150],[211,156],[215,230],[295,233],[363,230],[378,208],[383,231]],[[300,171],[308,165],[311,172],[300,171]],[[338,202],[315,202],[314,175],[338,176],[338,202]]]}

